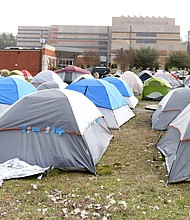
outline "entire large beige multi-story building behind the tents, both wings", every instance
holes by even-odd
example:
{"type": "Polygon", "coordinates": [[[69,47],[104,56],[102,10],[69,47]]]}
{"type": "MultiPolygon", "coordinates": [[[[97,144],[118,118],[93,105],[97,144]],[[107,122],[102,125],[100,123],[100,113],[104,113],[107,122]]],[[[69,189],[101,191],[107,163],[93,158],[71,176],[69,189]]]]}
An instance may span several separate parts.
{"type": "Polygon", "coordinates": [[[113,17],[112,26],[51,25],[50,27],[19,26],[17,46],[40,47],[47,42],[55,47],[61,66],[74,64],[79,54],[99,54],[106,65],[114,62],[119,49],[150,46],[160,53],[160,67],[174,51],[186,51],[180,41],[180,27],[174,18],[113,17]]]}

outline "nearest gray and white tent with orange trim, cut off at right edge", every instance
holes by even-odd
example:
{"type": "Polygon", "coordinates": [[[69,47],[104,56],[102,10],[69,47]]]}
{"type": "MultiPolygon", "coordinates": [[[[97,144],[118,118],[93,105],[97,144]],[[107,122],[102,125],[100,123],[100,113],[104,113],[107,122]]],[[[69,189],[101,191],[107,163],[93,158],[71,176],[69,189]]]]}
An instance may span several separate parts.
{"type": "Polygon", "coordinates": [[[168,182],[190,181],[190,104],[169,125],[157,143],[166,159],[168,182]]]}

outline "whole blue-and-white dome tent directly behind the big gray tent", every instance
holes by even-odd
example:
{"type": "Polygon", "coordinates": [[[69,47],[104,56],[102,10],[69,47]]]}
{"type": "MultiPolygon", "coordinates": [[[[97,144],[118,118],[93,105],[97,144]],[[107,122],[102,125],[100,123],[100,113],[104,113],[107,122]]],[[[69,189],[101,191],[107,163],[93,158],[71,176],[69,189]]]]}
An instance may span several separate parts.
{"type": "Polygon", "coordinates": [[[101,111],[110,129],[119,129],[135,116],[119,90],[103,79],[79,80],[66,89],[78,91],[88,97],[101,111]]]}

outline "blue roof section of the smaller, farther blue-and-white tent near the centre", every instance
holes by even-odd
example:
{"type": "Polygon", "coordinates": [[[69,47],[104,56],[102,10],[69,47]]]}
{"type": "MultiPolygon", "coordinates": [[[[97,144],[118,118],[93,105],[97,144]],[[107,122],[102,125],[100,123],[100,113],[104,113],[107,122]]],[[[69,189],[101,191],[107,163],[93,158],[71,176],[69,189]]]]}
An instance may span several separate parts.
{"type": "Polygon", "coordinates": [[[103,80],[106,80],[107,82],[116,86],[123,96],[131,97],[132,95],[134,95],[132,89],[124,80],[121,80],[117,77],[109,77],[109,76],[103,78],[103,80]]]}

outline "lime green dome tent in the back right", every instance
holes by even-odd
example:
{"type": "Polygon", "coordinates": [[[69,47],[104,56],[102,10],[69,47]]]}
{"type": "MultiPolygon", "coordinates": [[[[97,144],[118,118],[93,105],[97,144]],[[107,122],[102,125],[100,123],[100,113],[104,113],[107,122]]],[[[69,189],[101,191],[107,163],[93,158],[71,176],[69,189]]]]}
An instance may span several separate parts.
{"type": "Polygon", "coordinates": [[[166,80],[159,77],[149,78],[144,82],[142,99],[160,101],[171,89],[172,86],[166,80]]]}

